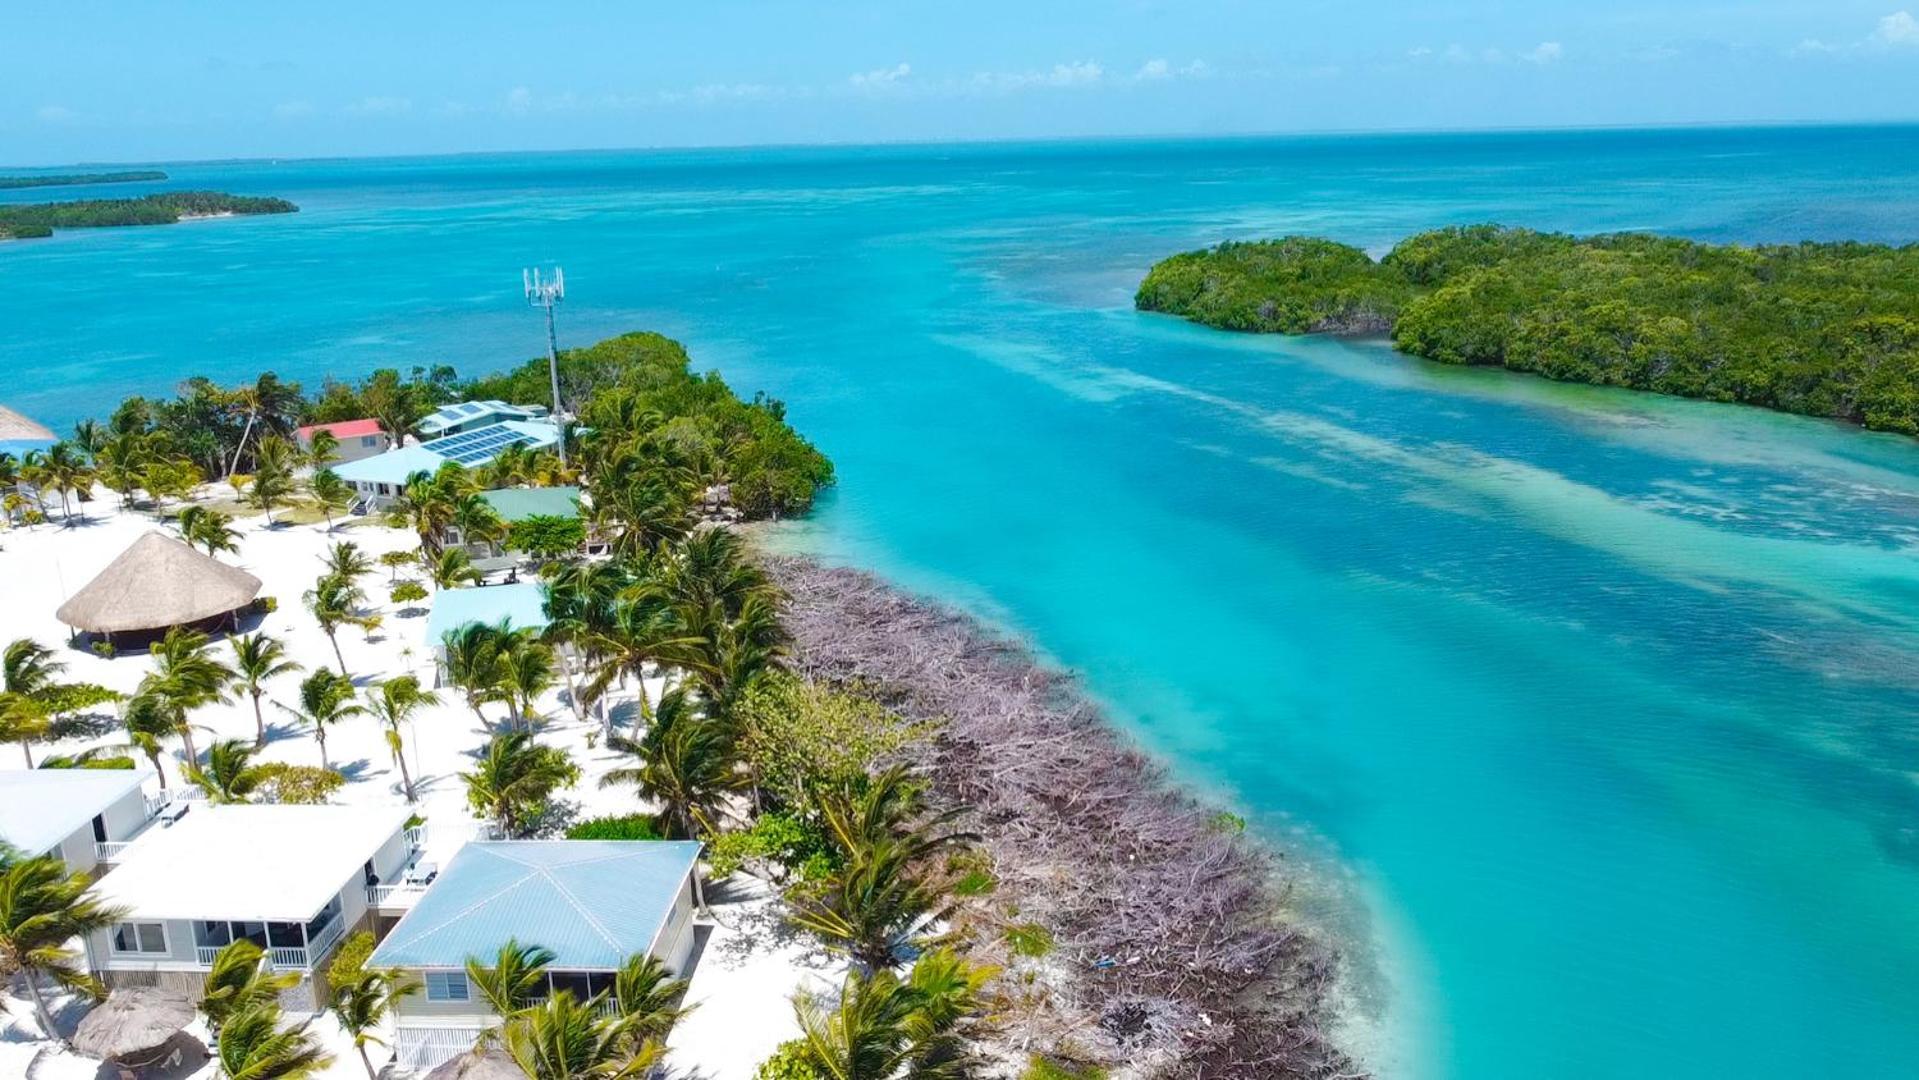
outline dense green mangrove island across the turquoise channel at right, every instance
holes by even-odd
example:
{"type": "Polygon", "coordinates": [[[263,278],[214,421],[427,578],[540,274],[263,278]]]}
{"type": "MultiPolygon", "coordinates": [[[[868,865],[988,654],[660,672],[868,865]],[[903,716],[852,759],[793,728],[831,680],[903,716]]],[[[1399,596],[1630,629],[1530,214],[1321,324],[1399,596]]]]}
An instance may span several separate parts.
{"type": "Polygon", "coordinates": [[[1374,261],[1288,236],[1173,255],[1134,305],[1220,330],[1389,334],[1430,361],[1919,434],[1919,246],[1476,224],[1374,261]]]}

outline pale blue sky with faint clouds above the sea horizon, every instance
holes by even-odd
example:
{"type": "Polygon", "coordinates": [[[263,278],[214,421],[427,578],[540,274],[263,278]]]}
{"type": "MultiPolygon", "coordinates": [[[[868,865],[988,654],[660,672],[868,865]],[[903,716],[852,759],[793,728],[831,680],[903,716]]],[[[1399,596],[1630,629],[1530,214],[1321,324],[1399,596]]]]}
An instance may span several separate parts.
{"type": "Polygon", "coordinates": [[[1919,119],[1915,12],[25,0],[6,15],[0,163],[1919,119]]]}

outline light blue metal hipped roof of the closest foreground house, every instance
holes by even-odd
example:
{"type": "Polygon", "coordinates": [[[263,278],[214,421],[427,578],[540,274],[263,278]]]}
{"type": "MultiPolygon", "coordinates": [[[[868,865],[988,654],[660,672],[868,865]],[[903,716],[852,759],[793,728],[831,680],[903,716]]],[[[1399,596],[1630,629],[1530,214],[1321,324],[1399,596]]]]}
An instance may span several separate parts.
{"type": "Polygon", "coordinates": [[[516,938],[557,971],[612,971],[652,948],[699,856],[695,840],[472,842],[368,963],[462,967],[516,938]]]}

